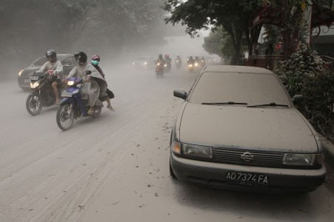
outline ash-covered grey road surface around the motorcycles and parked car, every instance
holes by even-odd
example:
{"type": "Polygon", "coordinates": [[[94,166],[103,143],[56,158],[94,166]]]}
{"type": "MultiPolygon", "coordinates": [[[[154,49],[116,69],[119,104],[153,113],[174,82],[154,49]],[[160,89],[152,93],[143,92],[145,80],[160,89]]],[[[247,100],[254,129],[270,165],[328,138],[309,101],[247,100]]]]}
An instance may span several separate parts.
{"type": "MultiPolygon", "coordinates": [[[[15,74],[13,74],[15,75],[15,74]]],[[[195,74],[106,71],[113,106],[68,132],[0,83],[0,221],[332,221],[334,176],[307,195],[213,190],[169,176],[169,132],[195,74]]]]}

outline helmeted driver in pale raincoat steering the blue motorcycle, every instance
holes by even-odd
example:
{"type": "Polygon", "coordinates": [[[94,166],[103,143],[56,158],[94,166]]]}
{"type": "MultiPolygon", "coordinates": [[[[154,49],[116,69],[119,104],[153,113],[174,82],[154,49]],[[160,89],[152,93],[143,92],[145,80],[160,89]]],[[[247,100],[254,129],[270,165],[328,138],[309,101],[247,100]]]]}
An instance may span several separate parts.
{"type": "MultiPolygon", "coordinates": [[[[92,78],[92,76],[99,76],[99,71],[92,66],[92,64],[87,62],[87,55],[84,52],[74,53],[76,62],[78,65],[74,67],[70,72],[67,78],[82,78],[83,87],[81,88],[81,95],[83,99],[88,98],[90,109],[88,114],[92,115],[95,112],[95,105],[102,105],[102,102],[99,101],[99,92],[100,87],[99,83],[92,78]],[[88,74],[90,73],[90,74],[88,74]],[[88,75],[87,75],[88,74],[88,75]]],[[[67,82],[67,79],[64,80],[67,82]]]]}

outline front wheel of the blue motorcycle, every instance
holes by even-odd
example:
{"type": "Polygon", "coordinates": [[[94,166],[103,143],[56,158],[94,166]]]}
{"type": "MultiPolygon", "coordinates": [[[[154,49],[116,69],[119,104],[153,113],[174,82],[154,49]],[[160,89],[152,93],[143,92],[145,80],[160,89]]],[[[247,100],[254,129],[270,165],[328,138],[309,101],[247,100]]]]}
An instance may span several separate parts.
{"type": "Polygon", "coordinates": [[[74,110],[70,104],[63,104],[57,110],[57,125],[61,130],[71,129],[74,123],[74,110]]]}

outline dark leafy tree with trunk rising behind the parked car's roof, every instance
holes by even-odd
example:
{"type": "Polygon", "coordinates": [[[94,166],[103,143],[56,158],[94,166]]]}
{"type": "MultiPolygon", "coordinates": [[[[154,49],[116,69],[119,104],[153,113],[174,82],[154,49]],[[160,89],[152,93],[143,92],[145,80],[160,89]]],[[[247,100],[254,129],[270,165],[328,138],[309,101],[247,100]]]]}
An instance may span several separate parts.
{"type": "Polygon", "coordinates": [[[181,25],[186,25],[186,32],[191,36],[195,36],[199,29],[209,29],[211,25],[222,26],[232,40],[235,50],[234,63],[241,64],[243,37],[246,39],[249,53],[251,53],[253,39],[257,41],[258,38],[256,33],[251,33],[249,27],[257,6],[257,0],[168,0],[165,10],[172,13],[167,22],[172,24],[180,22],[181,25]]]}

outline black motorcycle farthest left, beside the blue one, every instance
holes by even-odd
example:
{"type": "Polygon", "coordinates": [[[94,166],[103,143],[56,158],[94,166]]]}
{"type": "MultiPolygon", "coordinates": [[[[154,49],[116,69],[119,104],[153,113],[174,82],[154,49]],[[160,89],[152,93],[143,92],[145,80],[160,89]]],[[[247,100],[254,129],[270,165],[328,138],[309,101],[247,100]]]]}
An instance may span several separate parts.
{"type": "Polygon", "coordinates": [[[48,73],[35,72],[30,76],[30,88],[33,90],[27,97],[25,106],[32,116],[41,113],[43,107],[55,104],[55,93],[50,83],[55,81],[56,76],[48,73]]]}

